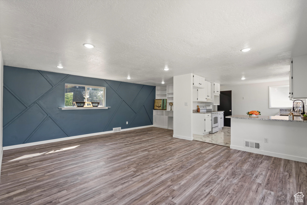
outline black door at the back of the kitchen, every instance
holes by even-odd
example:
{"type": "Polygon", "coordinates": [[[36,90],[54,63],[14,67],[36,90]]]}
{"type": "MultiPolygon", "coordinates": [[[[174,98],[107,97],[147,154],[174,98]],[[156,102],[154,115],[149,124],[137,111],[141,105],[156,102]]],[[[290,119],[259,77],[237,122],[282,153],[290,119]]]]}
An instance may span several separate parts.
{"type": "Polygon", "coordinates": [[[231,107],[231,90],[220,91],[220,105],[217,106],[217,110],[224,111],[224,126],[230,127],[230,116],[232,113],[231,107]]]}

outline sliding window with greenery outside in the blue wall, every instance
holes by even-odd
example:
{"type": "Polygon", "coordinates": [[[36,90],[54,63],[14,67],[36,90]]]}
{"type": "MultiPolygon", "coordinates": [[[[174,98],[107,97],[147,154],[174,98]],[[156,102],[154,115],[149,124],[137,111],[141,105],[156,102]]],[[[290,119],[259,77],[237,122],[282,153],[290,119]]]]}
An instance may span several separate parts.
{"type": "Polygon", "coordinates": [[[106,88],[98,86],[65,84],[65,107],[73,107],[72,102],[100,102],[99,107],[105,106],[106,88]]]}

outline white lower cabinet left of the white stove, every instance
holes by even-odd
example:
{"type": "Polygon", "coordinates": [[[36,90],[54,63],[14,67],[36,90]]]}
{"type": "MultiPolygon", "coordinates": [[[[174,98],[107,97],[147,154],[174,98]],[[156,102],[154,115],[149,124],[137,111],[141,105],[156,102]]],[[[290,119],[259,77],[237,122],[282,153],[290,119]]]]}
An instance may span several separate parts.
{"type": "Polygon", "coordinates": [[[211,131],[211,114],[193,113],[193,134],[204,135],[211,131]]]}

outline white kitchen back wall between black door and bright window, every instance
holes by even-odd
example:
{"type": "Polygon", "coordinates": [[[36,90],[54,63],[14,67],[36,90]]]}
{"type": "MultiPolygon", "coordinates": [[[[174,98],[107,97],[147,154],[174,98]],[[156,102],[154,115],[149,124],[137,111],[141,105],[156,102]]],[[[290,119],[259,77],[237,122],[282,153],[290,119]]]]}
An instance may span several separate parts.
{"type": "Polygon", "coordinates": [[[274,116],[279,109],[269,109],[269,86],[275,85],[289,85],[289,81],[221,86],[220,90],[232,91],[232,115],[246,115],[247,111],[257,110],[261,115],[274,116]]]}

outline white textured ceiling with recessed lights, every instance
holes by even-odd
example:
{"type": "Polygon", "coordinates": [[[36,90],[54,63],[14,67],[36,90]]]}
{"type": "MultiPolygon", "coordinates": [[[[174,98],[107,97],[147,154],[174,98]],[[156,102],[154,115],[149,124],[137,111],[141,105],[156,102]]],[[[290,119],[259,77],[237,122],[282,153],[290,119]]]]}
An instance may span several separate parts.
{"type": "Polygon", "coordinates": [[[4,65],[147,85],[286,80],[307,54],[306,22],[305,0],[0,1],[4,65]]]}

